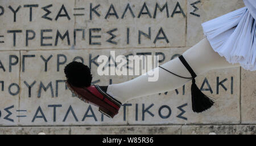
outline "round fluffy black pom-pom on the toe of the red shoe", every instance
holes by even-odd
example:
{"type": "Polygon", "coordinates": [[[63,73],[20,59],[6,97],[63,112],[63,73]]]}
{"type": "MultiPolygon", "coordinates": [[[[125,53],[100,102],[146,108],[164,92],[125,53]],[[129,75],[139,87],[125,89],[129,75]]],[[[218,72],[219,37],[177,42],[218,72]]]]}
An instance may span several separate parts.
{"type": "Polygon", "coordinates": [[[64,68],[65,76],[69,84],[75,87],[89,87],[92,83],[90,68],[81,62],[71,62],[64,68]]]}

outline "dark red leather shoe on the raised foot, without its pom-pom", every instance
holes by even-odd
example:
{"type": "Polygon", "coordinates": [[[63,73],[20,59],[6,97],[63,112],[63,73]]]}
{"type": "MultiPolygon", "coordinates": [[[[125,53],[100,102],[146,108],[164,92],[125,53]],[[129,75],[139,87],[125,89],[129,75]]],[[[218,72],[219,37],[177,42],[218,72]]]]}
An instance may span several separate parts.
{"type": "Polygon", "coordinates": [[[114,116],[118,114],[118,110],[122,105],[121,102],[102,91],[98,85],[79,88],[69,84],[68,81],[66,81],[66,84],[80,100],[99,107],[98,110],[106,116],[114,118],[114,116]]]}

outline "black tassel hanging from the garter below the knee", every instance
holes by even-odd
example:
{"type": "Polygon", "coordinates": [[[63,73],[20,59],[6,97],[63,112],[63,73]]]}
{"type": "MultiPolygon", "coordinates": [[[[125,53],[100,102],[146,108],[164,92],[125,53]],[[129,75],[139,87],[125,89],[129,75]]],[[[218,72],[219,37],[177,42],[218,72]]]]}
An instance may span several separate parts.
{"type": "Polygon", "coordinates": [[[214,104],[214,102],[197,87],[195,78],[192,79],[191,97],[192,110],[196,113],[208,110],[214,104]]]}

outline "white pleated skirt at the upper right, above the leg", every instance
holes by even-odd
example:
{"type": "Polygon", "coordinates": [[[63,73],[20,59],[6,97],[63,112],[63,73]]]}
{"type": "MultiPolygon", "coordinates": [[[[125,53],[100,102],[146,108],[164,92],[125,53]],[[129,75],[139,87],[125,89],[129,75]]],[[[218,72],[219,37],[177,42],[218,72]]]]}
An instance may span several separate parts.
{"type": "Polygon", "coordinates": [[[256,70],[256,36],[253,16],[246,7],[202,24],[213,50],[229,63],[256,70]]]}

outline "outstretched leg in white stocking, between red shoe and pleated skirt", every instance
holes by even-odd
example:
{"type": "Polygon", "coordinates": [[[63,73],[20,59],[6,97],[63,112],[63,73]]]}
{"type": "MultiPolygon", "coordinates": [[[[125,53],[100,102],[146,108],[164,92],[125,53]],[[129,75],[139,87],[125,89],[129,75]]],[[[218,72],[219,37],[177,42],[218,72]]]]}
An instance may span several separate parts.
{"type": "MultiPolygon", "coordinates": [[[[240,66],[239,64],[232,65],[228,63],[224,57],[221,57],[212,49],[206,38],[185,51],[183,53],[183,57],[197,75],[217,68],[240,66]]],[[[191,74],[180,62],[179,58],[175,58],[172,59],[172,61],[164,63],[162,67],[177,75],[191,77],[191,74]]],[[[159,79],[157,81],[148,81],[149,76],[143,75],[124,83],[109,85],[107,93],[124,104],[134,98],[172,91],[181,87],[190,80],[179,78],[178,76],[172,75],[159,67],[151,70],[150,72],[154,72],[156,74],[158,71],[159,79]]]]}

